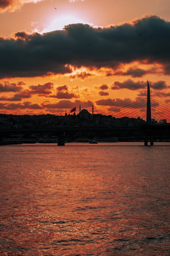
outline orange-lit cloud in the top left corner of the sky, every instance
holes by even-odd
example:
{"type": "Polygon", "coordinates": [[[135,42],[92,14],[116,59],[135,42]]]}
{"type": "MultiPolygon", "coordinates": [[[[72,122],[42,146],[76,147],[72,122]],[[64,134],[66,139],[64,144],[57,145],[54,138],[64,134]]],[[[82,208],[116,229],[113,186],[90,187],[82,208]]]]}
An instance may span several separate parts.
{"type": "Polygon", "coordinates": [[[0,12],[14,12],[26,3],[37,3],[42,0],[0,0],[0,12]]]}

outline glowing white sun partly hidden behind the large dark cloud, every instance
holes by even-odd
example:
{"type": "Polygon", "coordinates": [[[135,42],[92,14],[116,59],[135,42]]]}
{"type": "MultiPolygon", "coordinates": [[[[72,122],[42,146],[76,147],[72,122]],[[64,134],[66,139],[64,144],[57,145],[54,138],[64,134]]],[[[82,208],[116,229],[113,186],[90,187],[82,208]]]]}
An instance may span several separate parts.
{"type": "Polygon", "coordinates": [[[64,28],[64,26],[69,25],[69,24],[74,24],[74,23],[89,24],[79,18],[70,16],[70,15],[66,15],[66,16],[61,16],[57,19],[54,19],[52,21],[52,23],[47,28],[44,28],[40,33],[46,33],[46,32],[50,32],[50,31],[54,31],[54,30],[62,30],[64,28]]]}

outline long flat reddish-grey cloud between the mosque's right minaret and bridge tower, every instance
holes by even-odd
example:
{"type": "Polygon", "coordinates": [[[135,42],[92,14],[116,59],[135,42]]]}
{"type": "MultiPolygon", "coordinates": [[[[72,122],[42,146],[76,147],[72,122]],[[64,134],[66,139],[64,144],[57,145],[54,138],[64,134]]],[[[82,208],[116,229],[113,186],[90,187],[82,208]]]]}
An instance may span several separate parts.
{"type": "Polygon", "coordinates": [[[96,104],[100,106],[125,106],[134,103],[131,99],[104,99],[104,100],[97,100],[96,104]]]}

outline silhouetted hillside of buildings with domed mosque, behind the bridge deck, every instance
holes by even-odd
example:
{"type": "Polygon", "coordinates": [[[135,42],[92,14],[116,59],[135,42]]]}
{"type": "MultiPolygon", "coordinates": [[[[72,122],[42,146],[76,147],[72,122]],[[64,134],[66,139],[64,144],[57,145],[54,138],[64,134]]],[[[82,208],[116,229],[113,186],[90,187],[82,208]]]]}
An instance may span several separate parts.
{"type": "MultiPolygon", "coordinates": [[[[112,115],[90,114],[83,109],[79,114],[68,114],[56,116],[51,114],[43,115],[12,115],[0,114],[0,129],[24,129],[24,128],[55,128],[58,126],[68,127],[118,127],[118,126],[140,126],[145,125],[146,122],[142,118],[121,117],[116,118],[112,115]]],[[[156,122],[152,119],[154,125],[167,125],[166,119],[156,122]]]]}

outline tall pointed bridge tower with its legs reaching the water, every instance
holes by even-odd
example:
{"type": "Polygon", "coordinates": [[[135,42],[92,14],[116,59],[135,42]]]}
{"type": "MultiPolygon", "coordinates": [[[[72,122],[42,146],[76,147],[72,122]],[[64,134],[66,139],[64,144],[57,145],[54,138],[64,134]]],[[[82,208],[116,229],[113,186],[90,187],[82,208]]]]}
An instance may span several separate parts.
{"type": "Polygon", "coordinates": [[[148,84],[148,91],[147,91],[147,131],[145,135],[145,146],[148,146],[148,141],[150,141],[150,145],[153,145],[153,136],[152,136],[152,131],[151,131],[151,98],[150,98],[150,87],[149,83],[148,84]]]}

